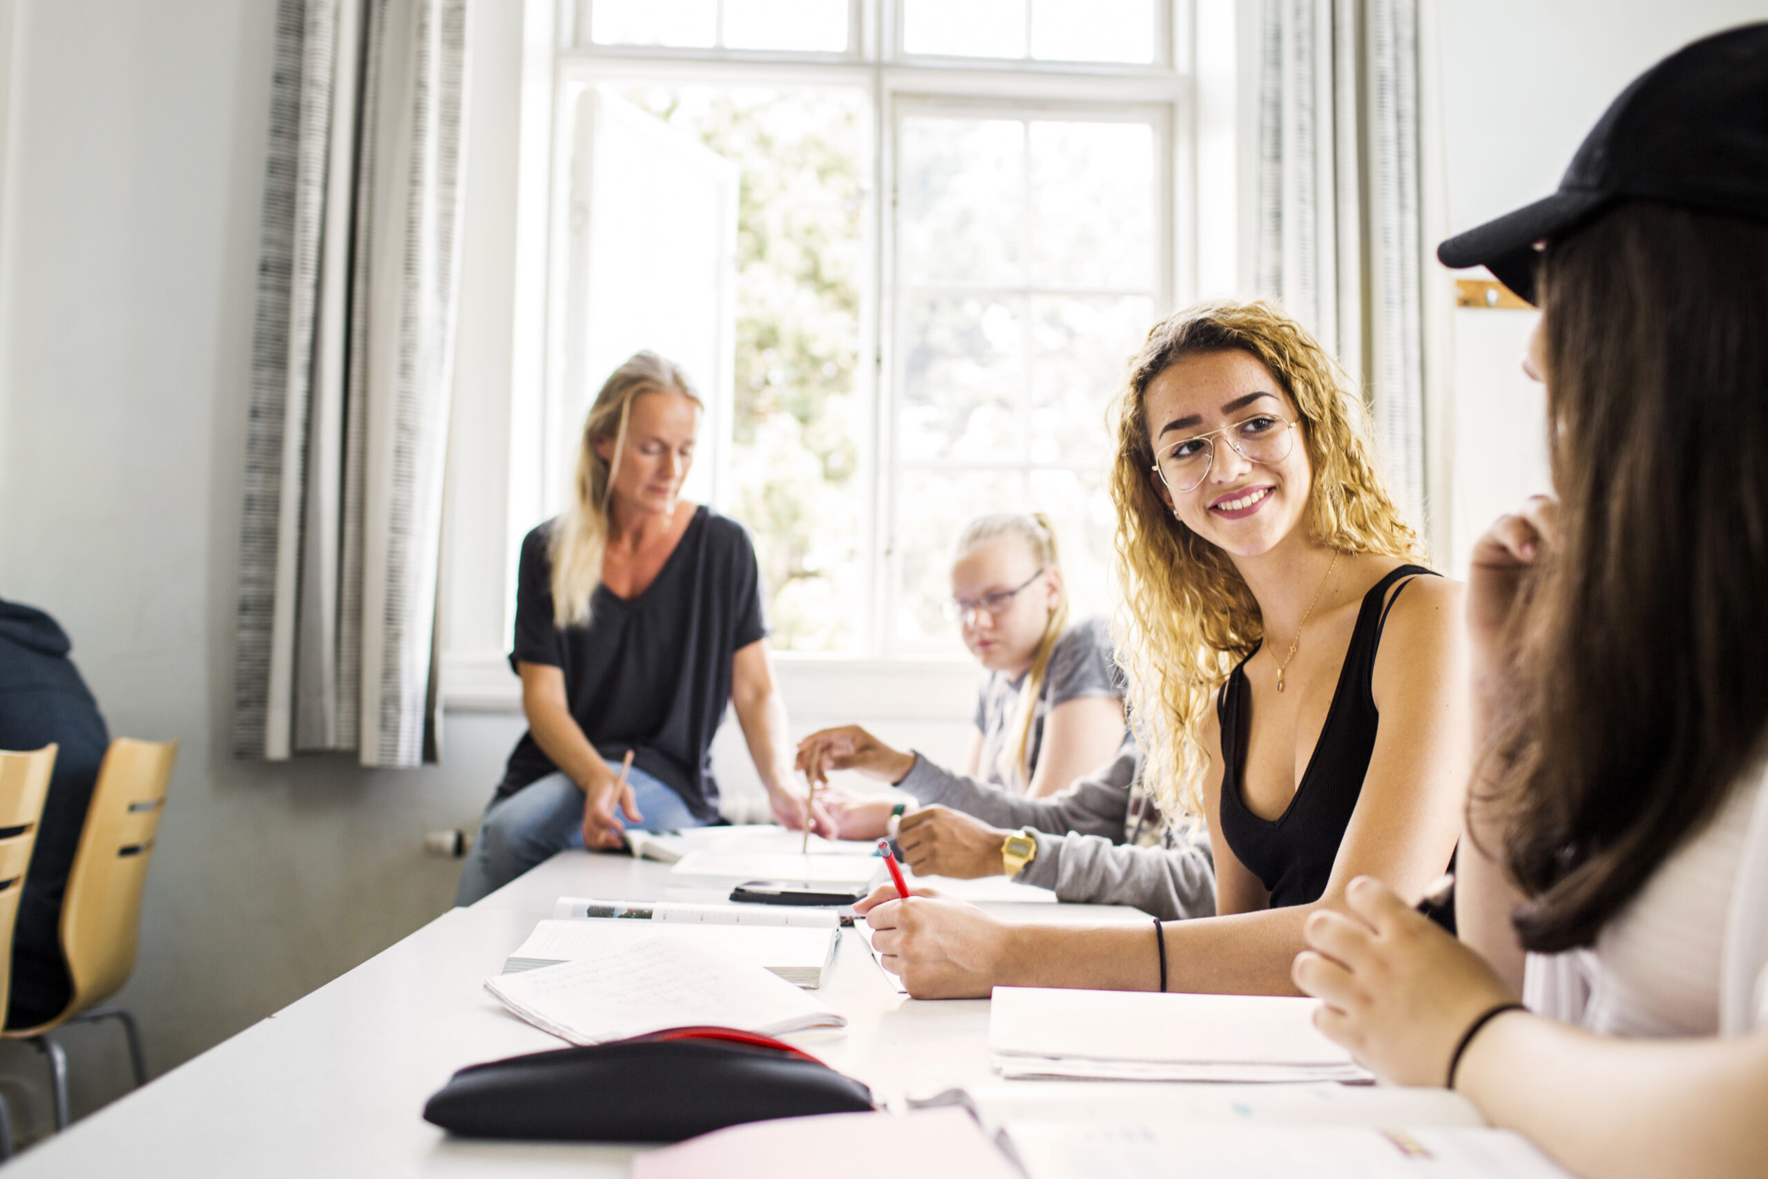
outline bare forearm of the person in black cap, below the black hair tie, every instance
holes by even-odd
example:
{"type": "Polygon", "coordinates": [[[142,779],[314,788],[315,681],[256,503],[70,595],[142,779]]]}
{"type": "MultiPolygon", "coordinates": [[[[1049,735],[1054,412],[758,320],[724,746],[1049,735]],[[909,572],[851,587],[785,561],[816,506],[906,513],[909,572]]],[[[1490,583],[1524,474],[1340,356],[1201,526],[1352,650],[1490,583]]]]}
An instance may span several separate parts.
{"type": "Polygon", "coordinates": [[[1729,1179],[1768,1158],[1768,1032],[1618,1039],[1517,1013],[1475,1038],[1455,1080],[1586,1179],[1729,1179]]]}

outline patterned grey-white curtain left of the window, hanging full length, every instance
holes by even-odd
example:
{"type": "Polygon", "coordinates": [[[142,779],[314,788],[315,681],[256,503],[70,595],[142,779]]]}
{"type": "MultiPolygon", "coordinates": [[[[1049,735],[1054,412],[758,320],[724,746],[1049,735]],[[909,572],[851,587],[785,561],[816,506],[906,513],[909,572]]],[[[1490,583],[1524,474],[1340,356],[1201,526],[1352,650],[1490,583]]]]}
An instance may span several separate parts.
{"type": "Polygon", "coordinates": [[[233,751],[437,751],[469,0],[279,0],[233,751]]]}

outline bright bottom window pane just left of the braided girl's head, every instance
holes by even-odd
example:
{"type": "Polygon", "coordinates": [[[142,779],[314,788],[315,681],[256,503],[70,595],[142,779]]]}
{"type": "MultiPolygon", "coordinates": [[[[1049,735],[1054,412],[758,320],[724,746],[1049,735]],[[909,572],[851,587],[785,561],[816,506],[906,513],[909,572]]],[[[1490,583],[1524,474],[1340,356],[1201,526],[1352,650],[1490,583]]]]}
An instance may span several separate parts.
{"type": "Polygon", "coordinates": [[[895,649],[964,652],[958,624],[948,622],[951,543],[972,516],[1025,509],[1025,477],[1017,470],[905,470],[896,481],[895,649]]]}

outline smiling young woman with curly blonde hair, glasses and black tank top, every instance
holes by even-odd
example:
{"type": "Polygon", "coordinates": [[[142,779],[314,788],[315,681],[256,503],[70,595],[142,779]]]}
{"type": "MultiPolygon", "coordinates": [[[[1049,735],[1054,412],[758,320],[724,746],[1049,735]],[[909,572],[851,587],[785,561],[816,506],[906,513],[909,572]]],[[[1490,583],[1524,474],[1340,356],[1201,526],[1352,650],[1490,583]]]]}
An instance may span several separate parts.
{"type": "Polygon", "coordinates": [[[1360,421],[1269,304],[1147,334],[1116,410],[1117,652],[1144,788],[1208,824],[1216,916],[1149,939],[880,891],[856,912],[912,995],[1296,993],[1303,924],[1353,877],[1418,900],[1444,871],[1467,780],[1460,587],[1411,564],[1360,421]]]}

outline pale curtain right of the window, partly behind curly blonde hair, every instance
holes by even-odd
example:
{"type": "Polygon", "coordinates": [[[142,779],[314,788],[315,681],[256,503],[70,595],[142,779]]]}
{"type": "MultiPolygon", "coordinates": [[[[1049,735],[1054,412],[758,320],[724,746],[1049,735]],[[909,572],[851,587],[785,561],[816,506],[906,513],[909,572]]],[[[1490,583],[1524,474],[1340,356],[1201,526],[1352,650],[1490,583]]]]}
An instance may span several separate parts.
{"type": "Polygon", "coordinates": [[[1264,0],[1259,49],[1257,290],[1361,384],[1421,525],[1418,0],[1264,0]]]}

